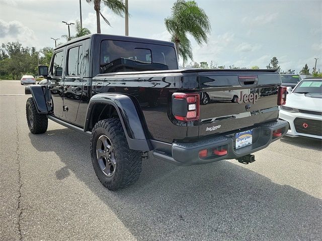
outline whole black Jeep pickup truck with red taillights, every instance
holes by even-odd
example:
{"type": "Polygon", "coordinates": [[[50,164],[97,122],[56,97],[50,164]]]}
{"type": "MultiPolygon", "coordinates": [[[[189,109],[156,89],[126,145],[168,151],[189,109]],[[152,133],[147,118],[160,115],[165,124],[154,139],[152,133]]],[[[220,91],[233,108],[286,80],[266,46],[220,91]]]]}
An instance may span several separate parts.
{"type": "Polygon", "coordinates": [[[138,179],[148,151],[178,165],[250,163],[288,130],[276,70],[178,69],[171,42],[88,35],[38,69],[48,81],[25,90],[30,132],[45,133],[51,119],[91,135],[94,170],[110,190],[138,179]]]}

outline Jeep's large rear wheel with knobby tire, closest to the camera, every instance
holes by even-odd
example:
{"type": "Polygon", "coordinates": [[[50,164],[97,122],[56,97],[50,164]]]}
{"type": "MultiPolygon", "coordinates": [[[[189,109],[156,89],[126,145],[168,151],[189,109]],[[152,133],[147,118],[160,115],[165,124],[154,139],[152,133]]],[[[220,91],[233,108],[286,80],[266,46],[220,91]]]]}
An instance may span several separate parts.
{"type": "Polygon", "coordinates": [[[109,190],[125,188],[139,178],[142,153],[129,149],[120,119],[104,119],[94,126],[90,150],[95,173],[109,190]]]}

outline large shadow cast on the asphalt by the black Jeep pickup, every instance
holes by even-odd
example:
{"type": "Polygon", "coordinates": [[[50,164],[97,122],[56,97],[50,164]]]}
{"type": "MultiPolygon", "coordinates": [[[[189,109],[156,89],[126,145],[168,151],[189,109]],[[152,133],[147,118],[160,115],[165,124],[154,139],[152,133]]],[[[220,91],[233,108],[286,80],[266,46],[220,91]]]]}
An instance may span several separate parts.
{"type": "Polygon", "coordinates": [[[96,178],[89,138],[69,129],[29,137],[65,163],[58,180],[73,172],[138,240],[322,238],[320,199],[231,162],[178,167],[150,156],[136,184],[111,192],[96,178]]]}

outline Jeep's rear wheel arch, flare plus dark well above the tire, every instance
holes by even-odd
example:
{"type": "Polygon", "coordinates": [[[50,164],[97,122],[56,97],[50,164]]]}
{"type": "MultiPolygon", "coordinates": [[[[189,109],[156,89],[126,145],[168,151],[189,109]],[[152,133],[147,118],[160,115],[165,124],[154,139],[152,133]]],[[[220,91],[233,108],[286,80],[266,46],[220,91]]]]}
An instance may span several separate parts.
{"type": "Polygon", "coordinates": [[[84,131],[91,131],[101,119],[118,117],[130,149],[152,150],[145,119],[136,102],[133,97],[125,94],[100,93],[94,95],[89,101],[84,131]]]}

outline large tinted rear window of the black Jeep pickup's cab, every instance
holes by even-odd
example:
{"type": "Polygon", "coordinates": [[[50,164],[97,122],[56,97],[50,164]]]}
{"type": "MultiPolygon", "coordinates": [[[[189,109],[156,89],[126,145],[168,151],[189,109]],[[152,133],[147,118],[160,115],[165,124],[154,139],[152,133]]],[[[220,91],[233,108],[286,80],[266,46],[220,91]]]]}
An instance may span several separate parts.
{"type": "Polygon", "coordinates": [[[171,46],[104,40],[101,43],[100,73],[177,69],[171,46]]]}

